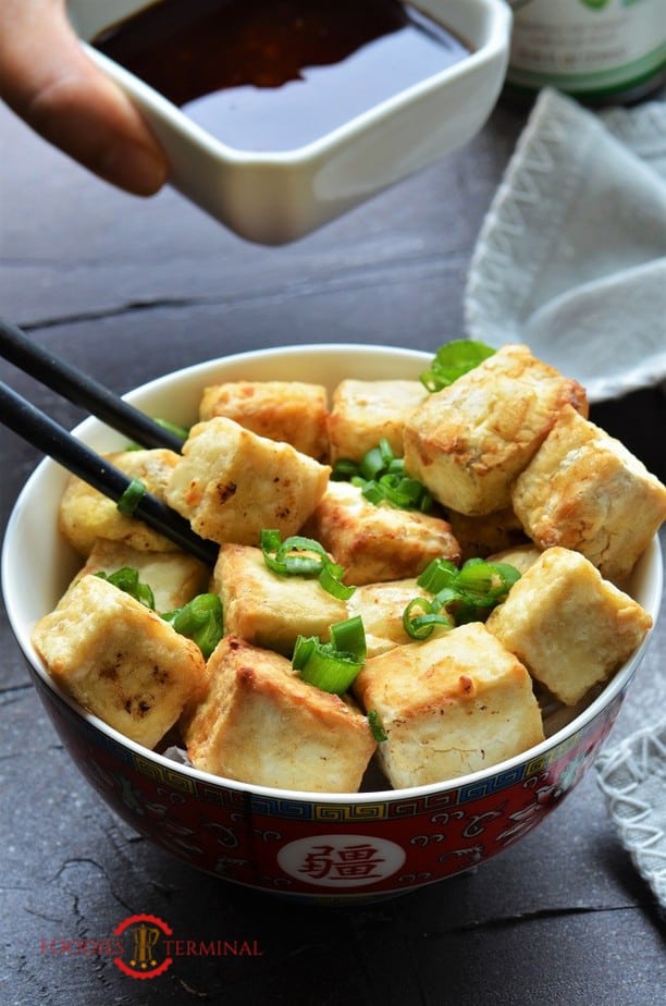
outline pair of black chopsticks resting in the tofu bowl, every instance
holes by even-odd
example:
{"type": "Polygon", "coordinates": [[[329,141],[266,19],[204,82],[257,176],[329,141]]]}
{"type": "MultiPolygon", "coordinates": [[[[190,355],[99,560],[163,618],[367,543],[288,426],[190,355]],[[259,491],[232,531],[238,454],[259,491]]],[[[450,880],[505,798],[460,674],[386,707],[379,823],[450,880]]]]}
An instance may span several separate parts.
{"type": "MultiPolygon", "coordinates": [[[[108,426],[144,447],[168,447],[180,453],[182,440],[64,360],[47,353],[16,326],[0,319],[2,357],[20,370],[86,408],[108,426]]],[[[131,489],[132,479],[59,426],[26,398],[0,381],[0,419],[33,446],[48,454],[74,475],[116,503],[131,489]]],[[[133,516],[160,531],[181,549],[213,564],[218,545],[195,535],[178,513],[144,492],[133,516]]]]}

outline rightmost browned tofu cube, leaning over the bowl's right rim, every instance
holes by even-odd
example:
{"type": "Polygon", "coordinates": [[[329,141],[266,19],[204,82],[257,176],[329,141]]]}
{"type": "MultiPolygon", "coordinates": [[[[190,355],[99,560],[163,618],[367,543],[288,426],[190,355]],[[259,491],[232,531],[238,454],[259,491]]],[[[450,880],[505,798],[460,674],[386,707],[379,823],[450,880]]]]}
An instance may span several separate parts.
{"type": "Polygon", "coordinates": [[[575,549],[613,581],[631,572],[666,518],[666,487],[619,440],[570,407],[511,498],[542,549],[575,549]]]}

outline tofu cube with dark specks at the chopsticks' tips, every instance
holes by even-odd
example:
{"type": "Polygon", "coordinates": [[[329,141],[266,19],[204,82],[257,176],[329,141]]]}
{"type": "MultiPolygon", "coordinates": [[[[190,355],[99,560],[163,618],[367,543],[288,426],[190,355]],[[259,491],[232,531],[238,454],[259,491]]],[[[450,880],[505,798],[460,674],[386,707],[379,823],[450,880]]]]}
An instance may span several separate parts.
{"type": "Polygon", "coordinates": [[[218,416],[190,430],[166,502],[211,541],[257,544],[262,528],[294,535],[325,492],[331,469],[218,416]]]}

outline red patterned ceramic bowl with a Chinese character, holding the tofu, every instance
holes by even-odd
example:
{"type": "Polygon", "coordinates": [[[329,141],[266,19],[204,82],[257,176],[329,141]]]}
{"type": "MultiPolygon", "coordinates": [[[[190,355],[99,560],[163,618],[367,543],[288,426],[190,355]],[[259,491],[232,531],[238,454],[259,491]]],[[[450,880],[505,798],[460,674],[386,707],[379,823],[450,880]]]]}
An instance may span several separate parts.
{"type": "MultiPolygon", "coordinates": [[[[160,378],[128,397],[150,415],[188,424],[200,390],[222,380],[418,377],[430,356],[358,345],[296,346],[212,360],[160,378]]],[[[98,450],[119,434],[86,420],[98,450]]],[[[377,900],[477,866],[557,808],[594,760],[648,640],[602,694],[536,747],[460,778],[411,789],[311,794],[252,786],[196,771],[141,748],[85,712],[51,682],[30,630],[81,561],[57,530],[66,474],[44,461],[8,525],[2,584],[9,618],[37,691],[84,775],[137,832],[193,867],[234,883],[313,903],[377,900]],[[34,571],[40,571],[35,580],[34,571]]],[[[662,559],[654,540],[629,590],[656,619],[662,559]]]]}

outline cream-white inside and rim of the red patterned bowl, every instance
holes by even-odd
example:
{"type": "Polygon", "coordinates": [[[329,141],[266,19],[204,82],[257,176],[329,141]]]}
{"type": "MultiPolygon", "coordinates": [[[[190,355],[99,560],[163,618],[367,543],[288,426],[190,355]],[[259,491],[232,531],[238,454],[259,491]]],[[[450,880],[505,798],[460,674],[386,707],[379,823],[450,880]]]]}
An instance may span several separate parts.
{"type": "MultiPolygon", "coordinates": [[[[158,378],[126,397],[148,415],[188,425],[196,419],[200,393],[207,384],[243,379],[298,380],[323,383],[332,390],[342,379],[349,376],[361,380],[416,379],[431,358],[430,354],[417,351],[344,344],[266,349],[195,365],[176,373],[158,378]]],[[[85,420],[75,432],[98,451],[118,450],[126,443],[121,434],[103,426],[97,419],[85,420]]],[[[58,504],[66,479],[67,473],[63,468],[50,459],[45,459],[26,482],[8,523],[2,550],[2,590],[10,624],[30,665],[48,688],[78,710],[78,707],[54,686],[30,641],[32,629],[36,621],[52,610],[72,576],[82,565],[81,559],[63,541],[57,527],[58,504]]],[[[637,564],[627,589],[656,621],[663,589],[662,555],[656,538],[637,564]]],[[[502,765],[492,765],[468,775],[464,780],[414,787],[409,790],[391,790],[388,796],[393,795],[398,798],[407,794],[440,792],[493,775],[522,762],[528,757],[539,757],[543,751],[559,744],[588,723],[626,688],[646,645],[648,640],[579,716],[529,752],[503,762],[502,765]]],[[[78,711],[102,733],[146,757],[145,749],[127,740],[96,716],[83,710],[78,711]]],[[[162,756],[152,754],[151,757],[162,763],[165,762],[162,756]]],[[[166,762],[166,764],[171,769],[174,768],[173,762],[166,762]]],[[[197,778],[215,782],[214,776],[188,766],[182,766],[181,771],[186,774],[192,773],[197,778]]],[[[217,782],[220,783],[220,780],[217,782]]],[[[258,786],[244,787],[240,783],[229,781],[224,781],[224,784],[232,788],[251,788],[252,792],[262,792],[262,787],[258,786]]],[[[278,790],[264,792],[276,793],[278,790]]],[[[283,795],[295,796],[287,792],[283,792],[283,795]]],[[[307,797],[307,794],[298,793],[299,799],[307,797]]],[[[311,798],[320,800],[321,794],[312,794],[311,798]]],[[[375,799],[377,793],[358,794],[354,795],[354,798],[368,801],[375,799]]],[[[328,799],[332,802],[348,801],[349,795],[332,795],[328,799]]]]}

